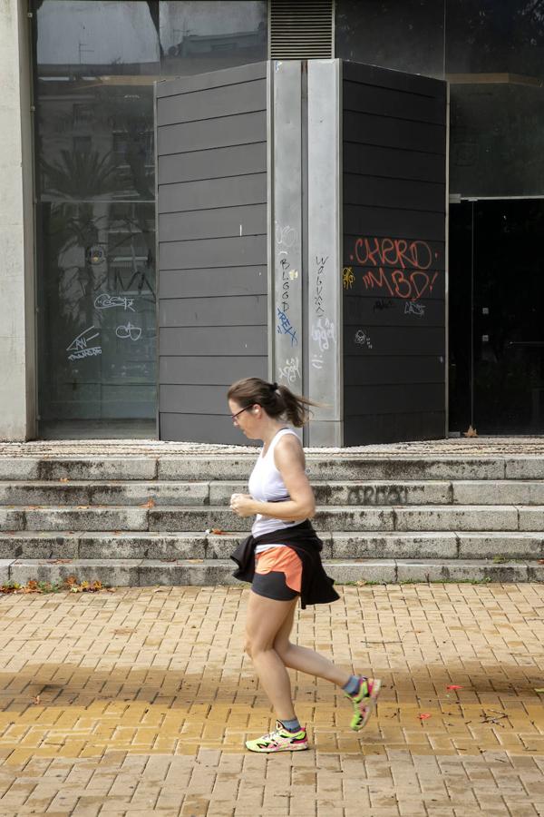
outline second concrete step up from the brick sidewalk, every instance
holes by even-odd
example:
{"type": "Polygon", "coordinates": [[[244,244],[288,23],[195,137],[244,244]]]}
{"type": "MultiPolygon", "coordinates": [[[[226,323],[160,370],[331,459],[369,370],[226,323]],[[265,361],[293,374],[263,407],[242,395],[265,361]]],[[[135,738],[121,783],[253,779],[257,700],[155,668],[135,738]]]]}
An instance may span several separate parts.
{"type": "MultiPolygon", "coordinates": [[[[227,559],[247,535],[150,531],[18,531],[0,533],[0,558],[227,559]]],[[[349,533],[318,531],[325,559],[539,559],[544,534],[520,532],[349,533]]]]}

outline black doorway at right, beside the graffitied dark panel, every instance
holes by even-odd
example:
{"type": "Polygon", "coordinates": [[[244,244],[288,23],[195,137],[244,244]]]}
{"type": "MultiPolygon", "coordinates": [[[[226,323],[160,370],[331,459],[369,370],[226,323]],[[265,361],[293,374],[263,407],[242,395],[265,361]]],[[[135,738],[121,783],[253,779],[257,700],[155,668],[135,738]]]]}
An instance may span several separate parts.
{"type": "Polygon", "coordinates": [[[544,200],[450,210],[450,428],[544,432],[544,200]]]}

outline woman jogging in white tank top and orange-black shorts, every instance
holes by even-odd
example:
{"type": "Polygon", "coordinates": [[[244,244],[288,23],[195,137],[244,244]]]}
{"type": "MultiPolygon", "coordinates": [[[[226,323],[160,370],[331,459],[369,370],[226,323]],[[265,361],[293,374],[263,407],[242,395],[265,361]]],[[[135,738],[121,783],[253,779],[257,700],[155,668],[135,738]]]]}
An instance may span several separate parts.
{"type": "Polygon", "coordinates": [[[380,692],[376,678],[349,674],[289,641],[298,596],[303,608],[339,598],[321,563],[323,544],[308,521],[316,501],[306,477],[304,451],[285,422],[303,426],[312,405],[287,387],[259,378],[238,380],[228,389],[234,424],[247,438],[263,441],[249,478],[249,494],[233,494],[230,499],[238,517],[257,515],[251,536],[232,558],[238,564],[234,576],[252,583],[246,650],[277,714],[274,732],[246,742],[252,752],[308,748],[306,728],[293,707],[287,667],[341,686],[354,706],[355,731],[367,722],[380,692]]]}

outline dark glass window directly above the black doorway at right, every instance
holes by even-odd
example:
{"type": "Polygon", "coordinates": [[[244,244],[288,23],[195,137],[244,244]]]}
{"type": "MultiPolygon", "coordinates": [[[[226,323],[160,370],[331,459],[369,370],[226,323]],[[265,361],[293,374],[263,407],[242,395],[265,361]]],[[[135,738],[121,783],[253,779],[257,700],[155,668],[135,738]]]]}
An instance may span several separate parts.
{"type": "Polygon", "coordinates": [[[450,190],[544,193],[544,17],[527,0],[448,0],[450,190]]]}

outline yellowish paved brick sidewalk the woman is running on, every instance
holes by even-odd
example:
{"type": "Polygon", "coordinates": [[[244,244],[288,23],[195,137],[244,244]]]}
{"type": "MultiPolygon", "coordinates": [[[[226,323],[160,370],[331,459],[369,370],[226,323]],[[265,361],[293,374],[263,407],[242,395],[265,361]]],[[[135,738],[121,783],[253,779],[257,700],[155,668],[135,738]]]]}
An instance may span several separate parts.
{"type": "Polygon", "coordinates": [[[294,674],[314,749],[293,756],[243,750],[271,723],[247,590],[0,597],[0,814],[544,815],[544,586],[340,592],[298,641],[384,693],[355,734],[333,686],[294,674]]]}

